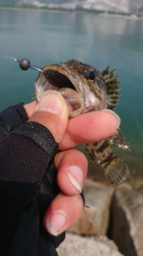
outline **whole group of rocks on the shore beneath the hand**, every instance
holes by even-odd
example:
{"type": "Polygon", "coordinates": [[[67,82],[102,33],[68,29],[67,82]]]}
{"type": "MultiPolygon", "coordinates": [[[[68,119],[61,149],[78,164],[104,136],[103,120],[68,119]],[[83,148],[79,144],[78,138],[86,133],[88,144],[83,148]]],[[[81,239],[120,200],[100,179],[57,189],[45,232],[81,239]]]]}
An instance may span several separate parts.
{"type": "Polygon", "coordinates": [[[59,256],[142,256],[143,194],[129,182],[118,188],[87,178],[85,207],[69,228],[59,256]]]}

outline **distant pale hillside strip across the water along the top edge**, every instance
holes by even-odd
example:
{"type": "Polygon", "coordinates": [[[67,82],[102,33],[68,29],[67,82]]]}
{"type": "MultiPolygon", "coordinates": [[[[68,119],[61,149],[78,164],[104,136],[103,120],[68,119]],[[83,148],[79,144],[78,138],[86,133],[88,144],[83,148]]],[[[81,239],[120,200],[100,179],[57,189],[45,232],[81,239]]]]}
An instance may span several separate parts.
{"type": "Polygon", "coordinates": [[[0,6],[15,5],[143,15],[143,0],[0,0],[0,6]]]}

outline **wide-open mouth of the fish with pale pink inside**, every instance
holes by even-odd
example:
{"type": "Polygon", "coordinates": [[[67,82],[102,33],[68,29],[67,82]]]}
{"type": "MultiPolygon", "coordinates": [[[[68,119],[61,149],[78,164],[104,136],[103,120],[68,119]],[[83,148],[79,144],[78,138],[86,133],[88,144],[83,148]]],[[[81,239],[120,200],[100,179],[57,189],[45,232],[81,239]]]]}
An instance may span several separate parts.
{"type": "MultiPolygon", "coordinates": [[[[74,77],[69,71],[65,70],[60,65],[47,65],[42,68],[40,84],[36,81],[37,99],[40,100],[40,95],[48,90],[54,90],[61,93],[65,98],[68,110],[69,118],[82,113],[81,101],[79,95],[78,77],[74,77]]],[[[80,86],[81,87],[81,86],[80,86]]]]}

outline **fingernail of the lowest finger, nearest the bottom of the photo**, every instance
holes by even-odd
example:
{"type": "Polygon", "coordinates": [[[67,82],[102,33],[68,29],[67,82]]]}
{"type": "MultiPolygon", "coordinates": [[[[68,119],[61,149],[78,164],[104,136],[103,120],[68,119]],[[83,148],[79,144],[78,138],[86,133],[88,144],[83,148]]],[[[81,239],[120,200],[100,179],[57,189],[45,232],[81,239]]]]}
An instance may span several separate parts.
{"type": "Polygon", "coordinates": [[[48,231],[53,234],[53,236],[58,236],[62,227],[66,223],[66,218],[63,214],[57,212],[56,214],[52,215],[49,219],[46,220],[46,226],[48,231]]]}

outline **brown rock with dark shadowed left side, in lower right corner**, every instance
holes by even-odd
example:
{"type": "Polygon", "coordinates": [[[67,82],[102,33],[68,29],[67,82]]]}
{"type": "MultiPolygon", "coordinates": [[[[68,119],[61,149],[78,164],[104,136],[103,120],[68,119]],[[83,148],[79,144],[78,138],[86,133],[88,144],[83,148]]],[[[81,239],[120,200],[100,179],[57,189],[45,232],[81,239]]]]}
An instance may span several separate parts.
{"type": "Polygon", "coordinates": [[[112,204],[111,238],[126,256],[143,255],[143,195],[118,189],[112,204]]]}

